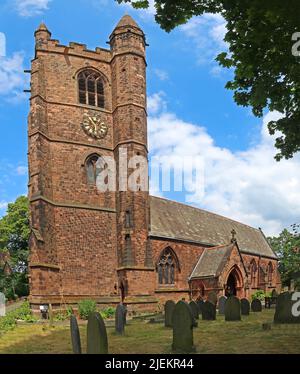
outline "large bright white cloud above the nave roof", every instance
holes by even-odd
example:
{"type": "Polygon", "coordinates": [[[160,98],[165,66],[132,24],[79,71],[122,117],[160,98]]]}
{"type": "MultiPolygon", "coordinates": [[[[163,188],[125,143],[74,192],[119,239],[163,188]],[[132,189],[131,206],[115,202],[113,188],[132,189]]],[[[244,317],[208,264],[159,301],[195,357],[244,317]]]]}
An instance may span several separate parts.
{"type": "Polygon", "coordinates": [[[279,118],[268,113],[261,125],[259,141],[246,151],[218,147],[205,127],[187,123],[166,111],[160,94],[150,97],[155,111],[149,117],[151,156],[171,159],[202,157],[205,166],[205,194],[189,195],[193,205],[262,227],[267,235],[299,222],[300,155],[276,162],[274,137],[267,123],[279,118]],[[159,98],[162,104],[159,104],[159,98]]]}

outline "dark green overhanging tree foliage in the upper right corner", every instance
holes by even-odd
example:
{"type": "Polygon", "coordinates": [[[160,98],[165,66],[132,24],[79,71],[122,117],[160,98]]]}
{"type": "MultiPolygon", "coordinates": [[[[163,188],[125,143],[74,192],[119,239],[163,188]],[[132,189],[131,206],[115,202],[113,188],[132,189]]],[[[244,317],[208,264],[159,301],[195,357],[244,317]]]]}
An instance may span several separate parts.
{"type": "MultiPolygon", "coordinates": [[[[148,0],[116,1],[131,3],[135,8],[149,7],[148,0]]],[[[257,117],[263,115],[264,109],[282,114],[282,118],[268,124],[269,133],[276,135],[279,152],[275,159],[293,157],[300,150],[300,53],[292,54],[292,36],[300,32],[299,0],[154,2],[155,19],[167,32],[204,13],[224,17],[224,40],[229,51],[219,54],[216,60],[221,66],[234,69],[234,78],[226,88],[234,91],[238,105],[252,107],[257,117]]]]}

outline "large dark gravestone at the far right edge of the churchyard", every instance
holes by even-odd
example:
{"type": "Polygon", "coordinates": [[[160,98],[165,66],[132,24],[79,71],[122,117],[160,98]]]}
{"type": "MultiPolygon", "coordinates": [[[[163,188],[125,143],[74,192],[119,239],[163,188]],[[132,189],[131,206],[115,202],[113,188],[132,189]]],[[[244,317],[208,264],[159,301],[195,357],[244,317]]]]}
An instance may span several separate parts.
{"type": "MultiPolygon", "coordinates": [[[[290,292],[280,294],[277,297],[274,323],[300,323],[300,316],[297,317],[293,315],[293,306],[297,300],[293,300],[293,294],[290,292]]],[[[294,308],[297,309],[297,311],[300,309],[296,306],[294,306],[294,308]]]]}

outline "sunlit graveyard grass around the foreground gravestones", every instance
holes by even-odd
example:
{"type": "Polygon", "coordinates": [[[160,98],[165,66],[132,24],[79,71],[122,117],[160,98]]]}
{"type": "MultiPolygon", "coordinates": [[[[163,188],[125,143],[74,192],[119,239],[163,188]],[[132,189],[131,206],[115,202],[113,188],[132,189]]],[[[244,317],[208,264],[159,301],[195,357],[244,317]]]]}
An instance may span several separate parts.
{"type": "MultiPolygon", "coordinates": [[[[242,321],[198,321],[194,329],[196,353],[300,353],[300,325],[274,325],[270,331],[262,323],[272,322],[274,309],[242,316],[242,321]]],[[[86,351],[86,324],[80,325],[83,352],[86,351]]],[[[171,353],[172,329],[163,323],[129,321],[125,335],[107,328],[109,353],[171,353]]],[[[68,324],[22,324],[0,337],[0,353],[72,353],[68,324]]]]}

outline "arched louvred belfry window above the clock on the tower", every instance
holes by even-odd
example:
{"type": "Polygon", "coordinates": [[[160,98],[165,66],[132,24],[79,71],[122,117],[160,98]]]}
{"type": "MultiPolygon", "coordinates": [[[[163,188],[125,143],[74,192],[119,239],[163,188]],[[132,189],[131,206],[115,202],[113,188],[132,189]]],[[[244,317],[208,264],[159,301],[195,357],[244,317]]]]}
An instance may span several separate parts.
{"type": "Polygon", "coordinates": [[[80,104],[104,108],[104,85],[98,72],[87,69],[79,73],[78,89],[80,104]]]}

